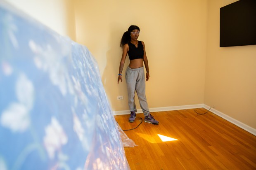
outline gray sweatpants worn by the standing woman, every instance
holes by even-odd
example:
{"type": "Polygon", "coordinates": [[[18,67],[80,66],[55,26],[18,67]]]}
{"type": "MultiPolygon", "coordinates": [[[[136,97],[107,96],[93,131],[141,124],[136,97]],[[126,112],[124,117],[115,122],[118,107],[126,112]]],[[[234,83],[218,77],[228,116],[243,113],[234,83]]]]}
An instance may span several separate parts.
{"type": "Polygon", "coordinates": [[[128,91],[128,105],[130,112],[137,112],[136,105],[134,102],[135,91],[139,98],[140,107],[144,116],[149,115],[149,108],[147,105],[147,99],[145,95],[145,72],[144,66],[141,68],[129,68],[126,69],[126,84],[128,91]]]}

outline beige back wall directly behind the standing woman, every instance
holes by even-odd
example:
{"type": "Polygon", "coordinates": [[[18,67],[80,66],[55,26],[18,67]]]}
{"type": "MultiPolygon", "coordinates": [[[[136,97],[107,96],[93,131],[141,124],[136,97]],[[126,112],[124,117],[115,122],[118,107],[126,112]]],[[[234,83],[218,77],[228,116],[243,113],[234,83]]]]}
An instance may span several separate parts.
{"type": "Polygon", "coordinates": [[[206,0],[76,0],[75,9],[76,40],[97,59],[113,111],[129,110],[126,82],[117,77],[121,36],[133,24],[149,60],[149,108],[204,103],[206,0]]]}

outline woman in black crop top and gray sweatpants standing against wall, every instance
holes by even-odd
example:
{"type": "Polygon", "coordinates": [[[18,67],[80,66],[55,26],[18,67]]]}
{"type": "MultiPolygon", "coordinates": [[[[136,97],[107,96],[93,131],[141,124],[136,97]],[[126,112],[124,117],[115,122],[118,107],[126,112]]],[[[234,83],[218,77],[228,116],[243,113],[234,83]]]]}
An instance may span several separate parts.
{"type": "Polygon", "coordinates": [[[130,64],[126,69],[126,84],[127,84],[127,91],[128,91],[128,105],[130,109],[130,118],[129,122],[134,122],[136,118],[136,105],[134,102],[135,91],[139,98],[140,107],[143,111],[145,116],[144,121],[147,123],[152,123],[154,125],[158,125],[159,122],[154,119],[149,112],[149,108],[147,105],[147,99],[145,95],[145,72],[144,72],[144,65],[147,70],[146,73],[146,82],[149,79],[149,66],[147,62],[147,56],[145,51],[145,44],[142,41],[138,41],[138,37],[140,35],[140,28],[137,26],[130,26],[128,31],[123,33],[123,37],[121,39],[120,47],[123,48],[123,54],[120,61],[119,66],[119,74],[117,84],[119,84],[119,80],[123,82],[122,79],[122,72],[123,72],[123,65],[126,61],[126,56],[128,54],[130,59],[130,64]]]}

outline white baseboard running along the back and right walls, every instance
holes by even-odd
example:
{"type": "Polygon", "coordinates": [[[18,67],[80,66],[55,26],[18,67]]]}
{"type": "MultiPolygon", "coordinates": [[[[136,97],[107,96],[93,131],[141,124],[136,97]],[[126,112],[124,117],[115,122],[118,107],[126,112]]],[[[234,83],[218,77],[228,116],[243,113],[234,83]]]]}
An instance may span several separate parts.
{"type": "MultiPolygon", "coordinates": [[[[155,108],[149,108],[150,112],[164,112],[164,111],[172,111],[172,110],[183,110],[183,109],[195,109],[195,108],[201,108],[203,107],[204,109],[210,109],[209,106],[205,104],[198,104],[198,105],[184,105],[184,106],[171,106],[171,107],[155,107],[155,108]]],[[[210,110],[212,113],[222,117],[223,119],[229,121],[230,123],[233,123],[234,125],[238,126],[239,128],[242,128],[246,130],[247,132],[253,134],[256,136],[256,129],[236,120],[233,119],[232,117],[211,108],[210,110]]],[[[129,110],[123,110],[123,111],[116,111],[112,112],[113,115],[124,115],[124,114],[130,114],[129,110]]],[[[137,113],[142,113],[142,109],[137,109],[137,113]]]]}

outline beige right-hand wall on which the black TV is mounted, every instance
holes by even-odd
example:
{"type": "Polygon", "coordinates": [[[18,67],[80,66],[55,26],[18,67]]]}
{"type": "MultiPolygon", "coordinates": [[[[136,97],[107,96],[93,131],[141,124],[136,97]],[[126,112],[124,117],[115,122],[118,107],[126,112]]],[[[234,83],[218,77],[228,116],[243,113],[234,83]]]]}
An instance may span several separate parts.
{"type": "Polygon", "coordinates": [[[256,45],[219,47],[220,7],[209,0],[204,104],[256,128],[256,45]]]}

